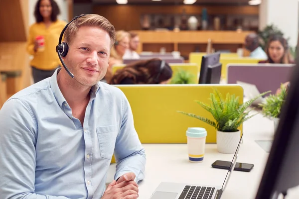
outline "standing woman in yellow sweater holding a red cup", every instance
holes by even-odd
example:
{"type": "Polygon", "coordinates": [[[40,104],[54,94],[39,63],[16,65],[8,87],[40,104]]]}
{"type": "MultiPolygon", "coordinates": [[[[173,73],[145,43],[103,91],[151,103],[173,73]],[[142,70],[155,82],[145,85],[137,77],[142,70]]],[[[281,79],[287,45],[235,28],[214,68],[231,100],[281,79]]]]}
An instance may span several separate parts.
{"type": "Polygon", "coordinates": [[[51,77],[60,61],[55,46],[66,22],[58,20],[59,7],[54,0],[38,0],[35,4],[36,22],[29,28],[27,52],[33,55],[30,61],[34,83],[51,77]]]}

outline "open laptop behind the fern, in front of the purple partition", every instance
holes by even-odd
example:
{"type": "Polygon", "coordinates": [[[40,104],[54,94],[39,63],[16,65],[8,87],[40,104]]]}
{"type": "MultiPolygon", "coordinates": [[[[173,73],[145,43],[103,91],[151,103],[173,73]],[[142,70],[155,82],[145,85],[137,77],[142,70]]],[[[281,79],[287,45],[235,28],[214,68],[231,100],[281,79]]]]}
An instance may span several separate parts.
{"type": "MultiPolygon", "coordinates": [[[[257,97],[258,95],[261,95],[257,86],[254,84],[241,82],[241,81],[237,81],[237,84],[239,84],[243,88],[244,96],[245,96],[246,100],[251,100],[251,99],[254,99],[255,97],[257,97]]],[[[252,105],[258,106],[260,103],[263,103],[263,102],[265,102],[265,98],[260,97],[257,100],[254,100],[252,102],[252,105]]]]}

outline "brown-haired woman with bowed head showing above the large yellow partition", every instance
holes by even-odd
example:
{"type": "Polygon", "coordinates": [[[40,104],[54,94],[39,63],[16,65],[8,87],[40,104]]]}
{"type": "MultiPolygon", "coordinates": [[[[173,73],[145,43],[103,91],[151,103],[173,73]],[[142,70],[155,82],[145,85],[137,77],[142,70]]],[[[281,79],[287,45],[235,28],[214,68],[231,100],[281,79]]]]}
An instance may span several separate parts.
{"type": "Polygon", "coordinates": [[[172,77],[170,66],[163,60],[141,60],[118,70],[110,84],[168,84],[172,77]]]}

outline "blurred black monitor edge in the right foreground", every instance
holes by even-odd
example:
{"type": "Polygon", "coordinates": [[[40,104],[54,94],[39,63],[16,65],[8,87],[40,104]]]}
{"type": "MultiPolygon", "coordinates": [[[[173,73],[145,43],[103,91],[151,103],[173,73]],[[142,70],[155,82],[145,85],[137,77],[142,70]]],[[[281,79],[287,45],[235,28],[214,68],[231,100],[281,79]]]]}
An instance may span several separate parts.
{"type": "Polygon", "coordinates": [[[299,51],[256,199],[277,199],[299,185],[299,51]]]}

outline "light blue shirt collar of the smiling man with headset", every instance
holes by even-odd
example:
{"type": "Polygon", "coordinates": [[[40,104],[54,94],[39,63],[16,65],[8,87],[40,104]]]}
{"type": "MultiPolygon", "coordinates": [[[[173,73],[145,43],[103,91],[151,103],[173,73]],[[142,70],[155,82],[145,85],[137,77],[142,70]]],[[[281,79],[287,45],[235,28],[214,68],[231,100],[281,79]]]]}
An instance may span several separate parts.
{"type": "MultiPolygon", "coordinates": [[[[62,105],[65,102],[67,103],[67,101],[63,97],[63,95],[62,95],[62,93],[61,93],[61,91],[58,87],[58,83],[57,83],[57,74],[60,70],[61,70],[61,68],[56,69],[54,74],[51,76],[50,86],[51,86],[51,89],[53,91],[53,95],[54,95],[55,99],[57,100],[59,106],[62,107],[62,105]]],[[[97,94],[99,92],[99,90],[100,90],[99,82],[91,88],[91,91],[92,91],[93,94],[97,94]]]]}

